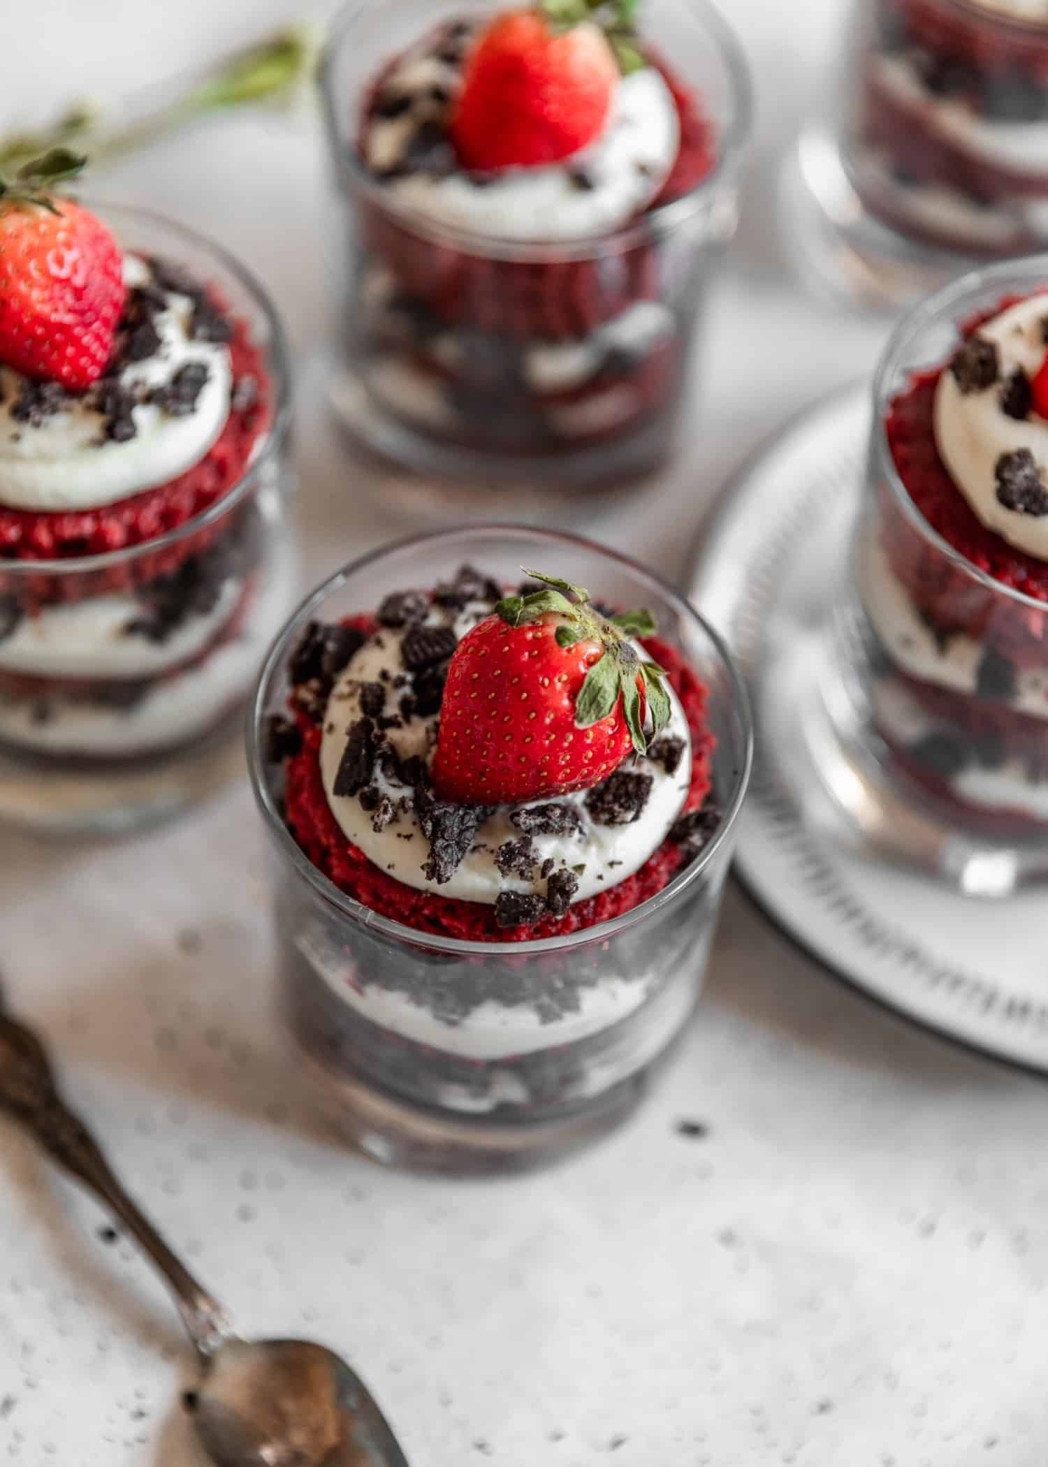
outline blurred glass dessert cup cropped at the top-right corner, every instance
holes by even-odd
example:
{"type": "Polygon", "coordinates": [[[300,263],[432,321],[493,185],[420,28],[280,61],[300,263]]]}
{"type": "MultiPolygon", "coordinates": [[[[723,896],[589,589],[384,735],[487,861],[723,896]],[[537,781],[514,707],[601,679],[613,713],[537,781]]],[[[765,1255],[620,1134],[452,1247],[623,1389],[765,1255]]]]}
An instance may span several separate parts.
{"type": "Polygon", "coordinates": [[[1044,10],[859,0],[832,92],[784,173],[787,233],[813,286],[909,305],[1048,245],[1044,10]]]}

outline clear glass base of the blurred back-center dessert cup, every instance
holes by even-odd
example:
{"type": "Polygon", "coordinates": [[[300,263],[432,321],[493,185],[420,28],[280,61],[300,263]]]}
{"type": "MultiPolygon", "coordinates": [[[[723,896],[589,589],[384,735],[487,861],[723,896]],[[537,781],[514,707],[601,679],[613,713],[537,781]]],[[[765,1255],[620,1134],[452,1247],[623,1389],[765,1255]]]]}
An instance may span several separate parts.
{"type": "Polygon", "coordinates": [[[392,483],[383,481],[383,505],[392,499],[411,515],[437,511],[442,519],[454,519],[483,503],[486,519],[498,519],[503,505],[506,518],[520,521],[523,512],[527,515],[530,494],[531,508],[547,513],[550,491],[622,493],[661,469],[672,450],[675,409],[584,449],[553,455],[471,449],[442,442],[385,411],[345,362],[326,365],[327,395],[341,425],[355,443],[407,471],[392,483]]]}

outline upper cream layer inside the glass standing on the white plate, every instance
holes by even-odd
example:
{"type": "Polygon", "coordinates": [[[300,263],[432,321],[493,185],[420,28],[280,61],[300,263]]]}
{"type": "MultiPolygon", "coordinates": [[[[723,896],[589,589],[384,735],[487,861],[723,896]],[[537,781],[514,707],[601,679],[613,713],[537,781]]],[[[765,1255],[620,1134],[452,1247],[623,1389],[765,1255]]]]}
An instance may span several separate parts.
{"type": "MultiPolygon", "coordinates": [[[[866,615],[897,667],[920,682],[970,697],[985,697],[980,692],[980,672],[988,656],[986,644],[964,632],[936,637],[922,621],[881,544],[863,547],[859,578],[866,615]]],[[[1007,706],[1016,713],[1048,719],[1048,666],[1016,666],[1013,675],[1014,692],[1007,706]]]]}

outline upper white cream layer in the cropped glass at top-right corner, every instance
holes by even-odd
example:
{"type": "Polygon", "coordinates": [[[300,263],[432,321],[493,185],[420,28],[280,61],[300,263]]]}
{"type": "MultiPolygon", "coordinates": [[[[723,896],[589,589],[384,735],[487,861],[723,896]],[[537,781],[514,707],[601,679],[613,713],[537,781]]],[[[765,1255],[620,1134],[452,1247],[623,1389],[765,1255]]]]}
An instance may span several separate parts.
{"type": "Polygon", "coordinates": [[[892,101],[919,109],[925,125],[975,158],[1030,178],[1048,176],[1048,122],[986,117],[958,97],[934,92],[920,72],[919,53],[876,56],[873,78],[892,101]]]}

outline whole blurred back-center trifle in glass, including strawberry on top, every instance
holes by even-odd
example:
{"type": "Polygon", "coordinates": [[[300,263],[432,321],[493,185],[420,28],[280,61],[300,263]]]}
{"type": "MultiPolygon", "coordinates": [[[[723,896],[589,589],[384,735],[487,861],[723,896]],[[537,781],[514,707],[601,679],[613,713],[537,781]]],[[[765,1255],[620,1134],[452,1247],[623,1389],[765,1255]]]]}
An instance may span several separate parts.
{"type": "Polygon", "coordinates": [[[326,104],[352,236],[333,399],[354,431],[496,481],[659,461],[734,230],[746,84],[716,16],[357,4],[326,104]]]}

